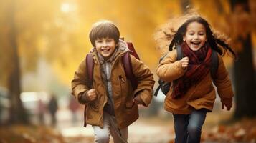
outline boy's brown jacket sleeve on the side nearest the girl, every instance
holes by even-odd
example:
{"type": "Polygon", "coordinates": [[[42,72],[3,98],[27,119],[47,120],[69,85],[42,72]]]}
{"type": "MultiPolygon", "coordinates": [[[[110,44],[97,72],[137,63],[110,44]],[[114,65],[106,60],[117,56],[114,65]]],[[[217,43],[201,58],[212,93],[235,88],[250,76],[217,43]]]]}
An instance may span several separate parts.
{"type": "Polygon", "coordinates": [[[133,92],[133,97],[141,99],[143,105],[147,107],[148,104],[150,104],[153,95],[153,84],[155,84],[153,74],[148,69],[148,66],[132,55],[131,64],[133,67],[133,74],[138,79],[138,87],[133,92]]]}

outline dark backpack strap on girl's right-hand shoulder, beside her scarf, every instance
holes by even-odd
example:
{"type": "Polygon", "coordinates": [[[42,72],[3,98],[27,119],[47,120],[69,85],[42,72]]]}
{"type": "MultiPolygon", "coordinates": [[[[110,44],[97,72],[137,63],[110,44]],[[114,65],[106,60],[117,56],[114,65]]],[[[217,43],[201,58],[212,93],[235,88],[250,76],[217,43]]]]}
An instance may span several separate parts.
{"type": "Polygon", "coordinates": [[[212,49],[210,72],[211,72],[211,76],[212,76],[213,79],[216,78],[218,67],[219,67],[218,53],[217,53],[217,51],[212,49]]]}

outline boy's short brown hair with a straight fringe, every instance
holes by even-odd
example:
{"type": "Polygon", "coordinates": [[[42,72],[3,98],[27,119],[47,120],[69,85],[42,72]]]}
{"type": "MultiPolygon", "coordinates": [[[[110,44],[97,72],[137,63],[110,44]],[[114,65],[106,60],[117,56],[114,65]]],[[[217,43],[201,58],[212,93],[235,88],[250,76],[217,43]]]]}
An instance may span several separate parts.
{"type": "Polygon", "coordinates": [[[111,21],[98,21],[93,24],[92,29],[90,30],[90,43],[95,47],[96,39],[101,38],[113,38],[115,40],[115,44],[118,44],[120,32],[118,27],[113,24],[111,21]]]}

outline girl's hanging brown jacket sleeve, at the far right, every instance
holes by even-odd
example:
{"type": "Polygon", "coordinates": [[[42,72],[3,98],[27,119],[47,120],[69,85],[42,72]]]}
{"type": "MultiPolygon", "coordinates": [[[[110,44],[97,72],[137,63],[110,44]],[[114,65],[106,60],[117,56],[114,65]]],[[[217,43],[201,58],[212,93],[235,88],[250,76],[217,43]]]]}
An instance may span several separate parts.
{"type": "Polygon", "coordinates": [[[221,56],[219,56],[219,66],[217,71],[217,77],[214,79],[214,84],[217,87],[217,92],[219,94],[219,97],[221,98],[222,103],[231,104],[234,92],[232,90],[232,84],[229,79],[229,74],[226,67],[224,66],[224,62],[221,56]]]}

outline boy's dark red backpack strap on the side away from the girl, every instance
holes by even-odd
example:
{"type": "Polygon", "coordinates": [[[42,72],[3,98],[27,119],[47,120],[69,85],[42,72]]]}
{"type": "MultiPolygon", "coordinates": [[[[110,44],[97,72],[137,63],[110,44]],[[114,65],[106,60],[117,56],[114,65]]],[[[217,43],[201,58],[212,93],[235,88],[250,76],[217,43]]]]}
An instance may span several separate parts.
{"type": "Polygon", "coordinates": [[[87,69],[87,76],[90,83],[90,88],[93,85],[93,68],[94,68],[94,61],[93,61],[93,54],[86,55],[86,69],[87,69]]]}

